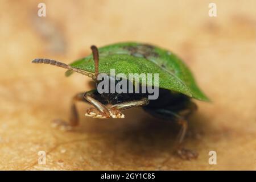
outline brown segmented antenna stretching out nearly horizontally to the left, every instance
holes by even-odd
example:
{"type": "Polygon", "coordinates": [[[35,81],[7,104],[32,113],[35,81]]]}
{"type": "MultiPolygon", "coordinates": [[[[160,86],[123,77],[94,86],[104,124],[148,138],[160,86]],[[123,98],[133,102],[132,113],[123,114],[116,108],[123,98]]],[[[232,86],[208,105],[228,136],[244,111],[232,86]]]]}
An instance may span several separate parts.
{"type": "Polygon", "coordinates": [[[61,67],[61,68],[65,68],[65,69],[68,69],[68,70],[72,70],[72,71],[77,72],[77,73],[81,73],[82,75],[89,76],[93,79],[95,78],[95,75],[93,75],[93,73],[86,72],[86,71],[84,71],[82,69],[79,69],[79,68],[73,68],[70,65],[67,65],[65,63],[61,63],[59,61],[51,60],[51,59],[34,59],[34,60],[32,60],[32,63],[51,64],[51,65],[55,65],[57,67],[61,67]]]}

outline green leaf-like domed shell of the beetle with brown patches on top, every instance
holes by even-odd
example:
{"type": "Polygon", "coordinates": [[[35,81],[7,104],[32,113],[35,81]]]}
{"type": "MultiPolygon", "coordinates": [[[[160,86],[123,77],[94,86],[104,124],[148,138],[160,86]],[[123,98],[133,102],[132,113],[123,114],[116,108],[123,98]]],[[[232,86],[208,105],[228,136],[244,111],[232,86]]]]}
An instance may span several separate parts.
{"type": "MultiPolygon", "coordinates": [[[[199,89],[195,78],[187,65],[165,49],[141,43],[117,43],[98,49],[100,55],[99,73],[110,74],[110,69],[115,69],[115,74],[124,73],[154,73],[159,74],[159,88],[183,93],[201,101],[209,101],[208,97],[199,89]]],[[[89,55],[70,64],[74,68],[94,72],[93,56],[89,55]]],[[[66,75],[71,75],[67,71],[66,75]]],[[[152,82],[154,85],[154,82],[152,82]]]]}

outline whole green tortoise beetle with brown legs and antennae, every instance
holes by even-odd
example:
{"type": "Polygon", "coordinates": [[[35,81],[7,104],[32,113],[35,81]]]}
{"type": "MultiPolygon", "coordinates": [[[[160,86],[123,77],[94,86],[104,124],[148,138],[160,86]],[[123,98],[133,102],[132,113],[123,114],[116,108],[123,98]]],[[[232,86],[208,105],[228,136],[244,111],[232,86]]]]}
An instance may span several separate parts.
{"type": "MultiPolygon", "coordinates": [[[[100,93],[97,89],[79,93],[73,97],[69,126],[76,126],[79,117],[76,101],[89,102],[85,115],[94,118],[124,118],[122,110],[141,106],[145,111],[157,118],[176,121],[181,125],[178,137],[177,154],[184,159],[197,158],[197,153],[181,147],[187,131],[187,118],[197,106],[191,98],[209,101],[199,89],[191,71],[174,53],[149,44],[128,42],[117,43],[97,49],[92,46],[92,55],[77,60],[70,65],[49,59],[35,59],[32,63],[52,64],[68,69],[66,76],[73,72],[89,76],[96,83],[96,88],[102,80],[100,73],[110,75],[110,69],[129,77],[129,73],[157,73],[159,75],[159,97],[148,100],[148,93],[100,93]],[[100,62],[100,63],[99,63],[100,62]]],[[[109,77],[111,80],[111,78],[109,77]]],[[[119,81],[115,81],[115,85],[119,81]]],[[[139,87],[142,85],[139,80],[139,87]]],[[[151,86],[155,86],[152,84],[151,86]]],[[[61,122],[60,122],[61,123],[61,122]]]]}

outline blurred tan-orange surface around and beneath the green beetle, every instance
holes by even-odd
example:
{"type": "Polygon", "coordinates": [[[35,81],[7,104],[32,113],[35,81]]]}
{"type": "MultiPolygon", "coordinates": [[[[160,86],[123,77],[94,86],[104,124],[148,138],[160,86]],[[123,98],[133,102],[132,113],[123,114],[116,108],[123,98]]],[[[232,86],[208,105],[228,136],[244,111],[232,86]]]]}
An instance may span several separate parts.
{"type": "Polygon", "coordinates": [[[0,2],[0,169],[256,169],[256,1],[40,1],[0,2]],[[141,109],[125,119],[84,117],[72,132],[51,127],[68,118],[73,94],[88,78],[31,60],[64,63],[89,46],[135,40],[165,47],[192,69],[213,103],[197,102],[185,145],[199,152],[172,154],[177,126],[141,109]],[[39,165],[38,151],[47,152],[39,165]],[[208,152],[217,152],[217,165],[208,152]]]}

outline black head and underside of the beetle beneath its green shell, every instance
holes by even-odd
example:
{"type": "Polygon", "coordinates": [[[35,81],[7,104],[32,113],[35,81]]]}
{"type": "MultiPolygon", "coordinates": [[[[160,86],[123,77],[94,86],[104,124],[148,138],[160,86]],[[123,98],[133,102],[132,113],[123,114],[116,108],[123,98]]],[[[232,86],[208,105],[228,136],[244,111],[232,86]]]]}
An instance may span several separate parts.
{"type": "MultiPolygon", "coordinates": [[[[118,82],[119,81],[115,81],[115,86],[118,84],[118,82]]],[[[139,87],[139,90],[142,90],[141,86],[139,87]]],[[[94,97],[105,105],[116,105],[122,102],[138,101],[142,100],[142,98],[147,98],[148,95],[150,94],[134,93],[134,90],[133,93],[129,93],[128,89],[126,93],[110,93],[110,89],[109,93],[100,94],[97,92],[97,89],[94,92],[94,97]]],[[[193,104],[190,97],[185,96],[184,94],[159,88],[159,97],[156,100],[150,100],[147,105],[142,107],[145,111],[155,117],[176,121],[179,119],[180,111],[187,110],[191,107],[196,107],[196,105],[193,104]]]]}

